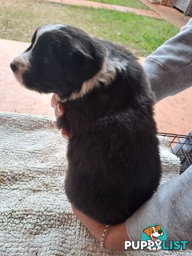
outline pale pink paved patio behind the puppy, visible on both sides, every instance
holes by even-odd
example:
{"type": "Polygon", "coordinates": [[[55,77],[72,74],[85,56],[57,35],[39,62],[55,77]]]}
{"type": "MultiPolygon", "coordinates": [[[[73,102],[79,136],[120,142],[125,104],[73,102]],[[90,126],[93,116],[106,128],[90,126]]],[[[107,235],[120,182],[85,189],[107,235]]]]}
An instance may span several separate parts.
{"type": "MultiPolygon", "coordinates": [[[[28,43],[0,39],[0,111],[31,113],[54,118],[51,95],[28,91],[15,81],[9,67],[11,60],[28,47],[28,43]]],[[[141,62],[145,58],[141,58],[141,62]]],[[[155,106],[159,132],[187,134],[191,130],[192,87],[155,106]]]]}

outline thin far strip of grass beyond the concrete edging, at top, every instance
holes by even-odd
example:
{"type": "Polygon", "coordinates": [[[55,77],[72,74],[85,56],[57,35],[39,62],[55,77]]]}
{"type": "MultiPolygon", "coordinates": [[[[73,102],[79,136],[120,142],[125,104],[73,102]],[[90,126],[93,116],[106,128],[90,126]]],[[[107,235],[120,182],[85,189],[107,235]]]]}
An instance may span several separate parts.
{"type": "Polygon", "coordinates": [[[116,4],[116,5],[137,8],[137,9],[150,10],[150,8],[147,5],[143,4],[139,0],[89,0],[89,1],[106,3],[106,4],[116,4]]]}

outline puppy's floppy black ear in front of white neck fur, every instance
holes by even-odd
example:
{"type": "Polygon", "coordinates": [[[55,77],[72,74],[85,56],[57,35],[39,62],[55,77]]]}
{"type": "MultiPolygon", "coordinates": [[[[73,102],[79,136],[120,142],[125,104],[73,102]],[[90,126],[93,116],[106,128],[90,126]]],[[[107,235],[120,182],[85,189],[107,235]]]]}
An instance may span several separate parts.
{"type": "Polygon", "coordinates": [[[69,54],[66,71],[70,82],[84,82],[95,74],[94,59],[77,46],[69,54]]]}

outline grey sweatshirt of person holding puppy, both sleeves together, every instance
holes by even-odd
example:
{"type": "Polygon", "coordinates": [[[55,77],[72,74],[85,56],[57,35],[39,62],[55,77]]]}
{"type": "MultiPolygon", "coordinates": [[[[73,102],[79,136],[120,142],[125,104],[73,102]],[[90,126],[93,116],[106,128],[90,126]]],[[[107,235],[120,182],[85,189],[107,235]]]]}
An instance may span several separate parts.
{"type": "MultiPolygon", "coordinates": [[[[149,55],[143,68],[156,102],[191,86],[192,19],[178,35],[149,55]]],[[[187,249],[192,250],[192,166],[164,183],[155,196],[126,220],[127,234],[131,240],[140,241],[142,230],[152,224],[165,229],[167,241],[188,240],[187,249]]]]}

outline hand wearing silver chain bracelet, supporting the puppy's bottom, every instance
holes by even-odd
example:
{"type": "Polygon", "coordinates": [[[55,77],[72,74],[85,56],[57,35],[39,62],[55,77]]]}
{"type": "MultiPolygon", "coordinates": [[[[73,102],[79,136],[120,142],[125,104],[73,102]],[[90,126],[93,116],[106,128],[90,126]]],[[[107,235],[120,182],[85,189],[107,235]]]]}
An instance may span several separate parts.
{"type": "MultiPolygon", "coordinates": [[[[77,219],[79,219],[83,225],[90,230],[91,234],[101,242],[101,237],[106,225],[91,219],[81,211],[78,211],[73,205],[71,205],[71,207],[77,219]]],[[[110,251],[124,251],[124,241],[130,241],[130,238],[126,232],[125,222],[122,222],[119,225],[109,227],[104,246],[110,251]]]]}

